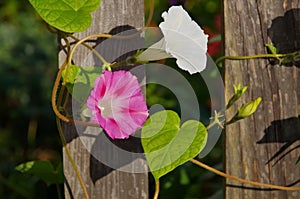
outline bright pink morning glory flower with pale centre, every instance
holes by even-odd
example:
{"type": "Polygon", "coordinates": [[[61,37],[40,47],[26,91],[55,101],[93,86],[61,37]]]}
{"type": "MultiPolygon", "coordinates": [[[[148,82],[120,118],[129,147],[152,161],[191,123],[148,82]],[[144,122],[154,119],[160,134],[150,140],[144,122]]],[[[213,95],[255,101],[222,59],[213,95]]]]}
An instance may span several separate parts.
{"type": "Polygon", "coordinates": [[[87,99],[91,120],[112,139],[128,138],[148,117],[138,80],[127,71],[104,71],[87,99]]]}

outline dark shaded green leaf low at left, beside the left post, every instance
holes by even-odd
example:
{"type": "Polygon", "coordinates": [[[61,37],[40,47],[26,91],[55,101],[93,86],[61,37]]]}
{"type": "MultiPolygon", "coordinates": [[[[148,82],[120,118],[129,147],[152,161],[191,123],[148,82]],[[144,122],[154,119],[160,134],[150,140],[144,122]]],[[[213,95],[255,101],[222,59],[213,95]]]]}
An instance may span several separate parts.
{"type": "Polygon", "coordinates": [[[18,165],[15,169],[21,173],[31,174],[40,178],[48,186],[64,182],[62,163],[54,169],[49,161],[30,161],[18,165]]]}

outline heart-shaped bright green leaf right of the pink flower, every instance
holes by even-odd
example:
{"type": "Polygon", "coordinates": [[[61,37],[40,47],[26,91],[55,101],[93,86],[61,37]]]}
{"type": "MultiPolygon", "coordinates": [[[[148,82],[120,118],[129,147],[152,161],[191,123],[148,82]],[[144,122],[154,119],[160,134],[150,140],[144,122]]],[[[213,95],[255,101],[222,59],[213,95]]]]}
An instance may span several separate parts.
{"type": "Polygon", "coordinates": [[[142,145],[155,180],[194,158],[206,141],[201,122],[189,120],[180,127],[177,113],[169,110],[153,114],[142,128],[142,145]]]}

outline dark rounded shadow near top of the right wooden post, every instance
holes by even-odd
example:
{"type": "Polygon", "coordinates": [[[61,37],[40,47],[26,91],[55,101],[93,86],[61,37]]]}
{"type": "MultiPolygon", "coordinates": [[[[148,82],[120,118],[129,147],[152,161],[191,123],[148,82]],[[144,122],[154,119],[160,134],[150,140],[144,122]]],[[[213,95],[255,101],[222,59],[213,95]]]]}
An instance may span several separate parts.
{"type": "MultiPolygon", "coordinates": [[[[267,34],[280,54],[300,50],[300,9],[288,10],[284,16],[273,19],[267,34]]],[[[276,62],[273,61],[273,64],[276,62]]],[[[293,65],[300,67],[300,61],[286,64],[286,66],[293,65]]]]}

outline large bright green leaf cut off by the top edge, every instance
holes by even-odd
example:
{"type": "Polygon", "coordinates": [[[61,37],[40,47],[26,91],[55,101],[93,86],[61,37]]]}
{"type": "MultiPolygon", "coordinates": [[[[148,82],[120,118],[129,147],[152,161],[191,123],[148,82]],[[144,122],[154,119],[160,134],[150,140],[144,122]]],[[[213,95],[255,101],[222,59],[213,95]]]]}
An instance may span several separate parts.
{"type": "Polygon", "coordinates": [[[68,33],[81,32],[91,22],[91,12],[100,0],[29,0],[41,18],[49,25],[68,33]]]}

